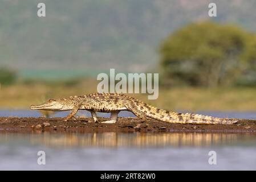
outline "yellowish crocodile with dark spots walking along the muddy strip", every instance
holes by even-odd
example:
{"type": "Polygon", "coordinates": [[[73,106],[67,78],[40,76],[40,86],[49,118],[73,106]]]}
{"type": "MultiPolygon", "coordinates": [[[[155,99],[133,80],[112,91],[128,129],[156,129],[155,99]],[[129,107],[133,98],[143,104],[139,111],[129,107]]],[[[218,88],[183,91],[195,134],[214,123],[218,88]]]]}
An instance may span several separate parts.
{"type": "Polygon", "coordinates": [[[98,122],[96,112],[111,113],[110,120],[102,123],[116,123],[117,115],[121,110],[128,110],[143,121],[147,118],[157,119],[168,123],[198,124],[198,125],[217,125],[233,124],[237,120],[229,118],[217,118],[208,115],[192,113],[176,113],[158,109],[157,107],[146,104],[136,98],[119,93],[94,93],[84,96],[70,96],[68,98],[50,99],[40,105],[31,105],[32,110],[67,111],[64,121],[68,121],[78,112],[78,110],[88,110],[91,112],[94,122],[98,122]]]}

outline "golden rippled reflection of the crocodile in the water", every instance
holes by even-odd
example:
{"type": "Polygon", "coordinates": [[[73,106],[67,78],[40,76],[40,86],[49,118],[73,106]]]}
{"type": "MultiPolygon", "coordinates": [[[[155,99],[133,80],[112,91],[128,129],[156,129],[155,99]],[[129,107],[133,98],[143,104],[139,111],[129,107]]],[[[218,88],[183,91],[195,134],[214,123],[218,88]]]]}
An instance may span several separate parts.
{"type": "Polygon", "coordinates": [[[55,147],[125,147],[125,146],[212,146],[231,144],[247,134],[233,133],[84,133],[52,134],[30,137],[31,144],[44,144],[55,147]]]}

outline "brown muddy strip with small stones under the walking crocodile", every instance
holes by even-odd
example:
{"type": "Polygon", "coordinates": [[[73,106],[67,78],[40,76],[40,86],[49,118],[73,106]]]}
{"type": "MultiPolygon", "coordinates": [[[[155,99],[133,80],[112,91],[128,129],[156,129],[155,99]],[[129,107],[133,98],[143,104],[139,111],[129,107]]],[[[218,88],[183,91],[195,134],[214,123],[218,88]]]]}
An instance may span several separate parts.
{"type": "MultiPolygon", "coordinates": [[[[99,122],[107,118],[99,118],[99,122]]],[[[148,119],[120,117],[117,123],[94,123],[92,118],[74,118],[64,122],[63,118],[0,117],[0,132],[70,131],[70,132],[256,132],[256,120],[240,119],[234,125],[182,125],[148,119]]]]}

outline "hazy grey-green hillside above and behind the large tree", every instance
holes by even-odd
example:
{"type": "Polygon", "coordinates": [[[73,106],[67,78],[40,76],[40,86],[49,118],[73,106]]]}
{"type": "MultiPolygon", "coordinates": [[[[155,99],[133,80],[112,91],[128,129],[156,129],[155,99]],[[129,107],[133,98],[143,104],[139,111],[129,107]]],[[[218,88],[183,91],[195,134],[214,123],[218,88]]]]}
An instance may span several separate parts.
{"type": "MultiPolygon", "coordinates": [[[[208,19],[204,0],[5,0],[0,5],[0,65],[28,69],[116,68],[157,65],[157,46],[170,32],[208,19]],[[36,15],[46,4],[46,18],[36,15]]],[[[256,31],[254,0],[215,1],[218,22],[256,31]]]]}

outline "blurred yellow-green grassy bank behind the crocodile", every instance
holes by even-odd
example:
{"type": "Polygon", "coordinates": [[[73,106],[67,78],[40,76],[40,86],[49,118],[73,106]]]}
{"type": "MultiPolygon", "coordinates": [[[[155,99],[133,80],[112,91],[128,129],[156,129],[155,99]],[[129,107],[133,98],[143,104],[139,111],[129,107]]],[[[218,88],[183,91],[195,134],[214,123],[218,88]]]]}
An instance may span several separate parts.
{"type": "MultiPolygon", "coordinates": [[[[78,82],[19,82],[0,88],[1,109],[28,109],[48,98],[96,92],[95,80],[78,82]]],[[[167,110],[256,111],[256,88],[160,88],[157,100],[147,94],[132,96],[167,110]]]]}

